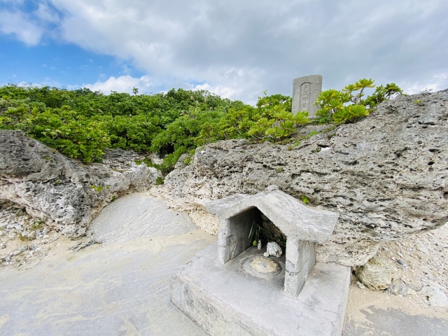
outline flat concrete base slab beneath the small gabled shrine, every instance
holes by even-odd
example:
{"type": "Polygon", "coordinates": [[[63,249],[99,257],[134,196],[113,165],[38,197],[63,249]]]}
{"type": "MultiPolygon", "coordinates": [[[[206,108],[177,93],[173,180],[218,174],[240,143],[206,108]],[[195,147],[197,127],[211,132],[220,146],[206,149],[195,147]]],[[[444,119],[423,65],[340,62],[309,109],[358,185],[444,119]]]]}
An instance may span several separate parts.
{"type": "Polygon", "coordinates": [[[253,275],[255,247],[216,262],[213,244],[197,253],[172,281],[172,302],[210,335],[341,335],[350,267],[317,263],[297,298],[283,293],[284,264],[274,274],[253,275]]]}

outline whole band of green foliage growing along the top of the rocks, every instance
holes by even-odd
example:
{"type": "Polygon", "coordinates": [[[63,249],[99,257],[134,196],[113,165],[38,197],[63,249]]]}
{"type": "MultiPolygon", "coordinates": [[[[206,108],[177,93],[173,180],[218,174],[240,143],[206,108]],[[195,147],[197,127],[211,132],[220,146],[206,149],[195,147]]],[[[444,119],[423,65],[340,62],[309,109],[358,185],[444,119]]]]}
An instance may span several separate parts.
{"type": "MultiPolygon", "coordinates": [[[[391,83],[363,99],[368,87],[374,87],[373,80],[321,92],[316,102],[318,118],[311,123],[353,122],[385,99],[402,94],[391,83]]],[[[296,146],[297,140],[290,139],[310,123],[306,111],[291,113],[291,98],[282,94],[264,92],[251,106],[204,90],[139,94],[134,87],[132,92],[4,85],[0,87],[0,130],[23,130],[83,162],[100,162],[106,148],[159,153],[164,162],[153,166],[169,172],[184,153],[218,140],[296,141],[296,146]]],[[[144,163],[152,165],[151,160],[144,163]]]]}

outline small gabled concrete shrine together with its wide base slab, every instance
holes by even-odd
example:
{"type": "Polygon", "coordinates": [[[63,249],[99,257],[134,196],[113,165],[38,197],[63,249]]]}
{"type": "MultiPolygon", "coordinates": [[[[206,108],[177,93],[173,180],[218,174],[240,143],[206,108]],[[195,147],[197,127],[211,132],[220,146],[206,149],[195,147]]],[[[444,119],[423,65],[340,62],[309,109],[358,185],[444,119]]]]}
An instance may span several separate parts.
{"type": "Polygon", "coordinates": [[[204,205],[219,218],[218,241],[173,277],[172,302],[181,311],[212,336],[341,335],[351,269],[316,263],[314,251],[338,214],[308,207],[277,186],[204,205]],[[286,236],[286,253],[267,258],[266,245],[252,246],[258,211],[286,236]]]}

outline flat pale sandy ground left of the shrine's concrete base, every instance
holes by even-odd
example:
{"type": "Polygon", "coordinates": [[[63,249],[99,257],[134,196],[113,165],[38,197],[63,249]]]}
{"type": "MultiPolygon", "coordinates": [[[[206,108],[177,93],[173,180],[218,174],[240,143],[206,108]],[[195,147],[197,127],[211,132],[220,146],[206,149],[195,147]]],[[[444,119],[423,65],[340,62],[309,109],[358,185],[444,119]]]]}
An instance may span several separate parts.
{"type": "Polygon", "coordinates": [[[0,335],[206,336],[169,290],[177,269],[214,240],[198,229],[112,244],[61,237],[37,262],[1,270],[0,335]]]}

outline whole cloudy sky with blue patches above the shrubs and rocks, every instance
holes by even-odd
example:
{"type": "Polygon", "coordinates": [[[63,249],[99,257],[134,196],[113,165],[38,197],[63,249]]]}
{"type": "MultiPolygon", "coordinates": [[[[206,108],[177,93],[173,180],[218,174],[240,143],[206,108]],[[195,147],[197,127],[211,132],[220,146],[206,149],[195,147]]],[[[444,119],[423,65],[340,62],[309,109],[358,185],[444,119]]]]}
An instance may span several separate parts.
{"type": "Polygon", "coordinates": [[[448,87],[447,0],[0,0],[0,85],[253,103],[360,78],[407,93],[448,87]]]}

